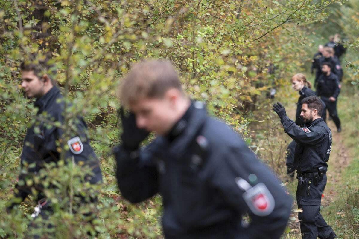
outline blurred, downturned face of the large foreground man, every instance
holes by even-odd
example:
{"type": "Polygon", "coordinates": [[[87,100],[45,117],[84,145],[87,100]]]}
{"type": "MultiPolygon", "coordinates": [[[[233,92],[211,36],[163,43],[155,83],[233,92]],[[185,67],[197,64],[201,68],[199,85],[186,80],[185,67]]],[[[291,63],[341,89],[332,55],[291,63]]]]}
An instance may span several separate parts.
{"type": "Polygon", "coordinates": [[[165,135],[174,125],[173,102],[164,96],[163,98],[145,98],[130,105],[130,110],[136,115],[138,128],[159,135],[165,135]]]}

